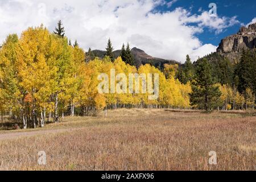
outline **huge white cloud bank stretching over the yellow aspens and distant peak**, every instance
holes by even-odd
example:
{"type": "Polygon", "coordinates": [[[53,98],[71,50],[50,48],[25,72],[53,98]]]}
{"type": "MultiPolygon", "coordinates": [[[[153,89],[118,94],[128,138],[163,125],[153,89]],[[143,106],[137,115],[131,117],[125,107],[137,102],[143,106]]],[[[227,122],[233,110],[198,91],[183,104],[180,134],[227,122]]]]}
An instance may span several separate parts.
{"type": "Polygon", "coordinates": [[[21,34],[30,26],[43,23],[53,31],[63,20],[66,35],[77,39],[87,50],[105,49],[108,38],[115,49],[130,42],[148,54],[164,59],[183,61],[189,54],[192,60],[215,51],[211,44],[203,45],[196,35],[204,27],[216,33],[238,23],[236,17],[210,17],[207,12],[191,15],[177,8],[164,13],[155,12],[163,0],[1,0],[0,40],[11,33],[21,34]],[[189,23],[193,23],[193,26],[189,23]]]}

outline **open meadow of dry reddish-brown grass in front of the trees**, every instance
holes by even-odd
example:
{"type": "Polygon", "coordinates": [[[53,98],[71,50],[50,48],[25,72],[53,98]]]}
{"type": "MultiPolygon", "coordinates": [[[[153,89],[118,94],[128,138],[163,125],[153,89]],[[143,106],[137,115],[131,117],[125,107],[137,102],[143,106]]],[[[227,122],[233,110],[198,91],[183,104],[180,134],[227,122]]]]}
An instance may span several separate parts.
{"type": "Polygon", "coordinates": [[[255,170],[256,114],[120,109],[0,131],[2,170],[255,170]],[[47,165],[38,165],[45,151],[47,165]],[[209,152],[217,165],[209,165],[209,152]]]}

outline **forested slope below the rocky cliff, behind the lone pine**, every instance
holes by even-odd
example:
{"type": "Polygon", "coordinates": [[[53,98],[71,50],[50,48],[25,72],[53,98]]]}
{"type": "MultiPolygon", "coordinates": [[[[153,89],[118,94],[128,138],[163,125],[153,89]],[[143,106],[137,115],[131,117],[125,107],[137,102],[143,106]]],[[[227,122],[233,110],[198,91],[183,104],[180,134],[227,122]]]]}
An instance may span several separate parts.
{"type": "MultiPolygon", "coordinates": [[[[176,77],[185,84],[196,79],[196,69],[202,60],[211,67],[210,76],[214,78],[221,91],[219,109],[254,109],[256,98],[256,56],[255,49],[242,52],[241,59],[232,63],[220,53],[211,53],[191,64],[189,57],[181,65],[176,77]]],[[[197,77],[198,78],[198,77],[197,77]]]]}

